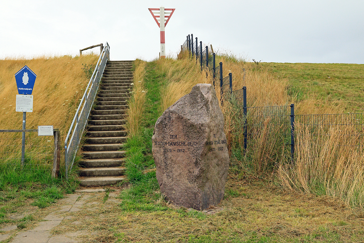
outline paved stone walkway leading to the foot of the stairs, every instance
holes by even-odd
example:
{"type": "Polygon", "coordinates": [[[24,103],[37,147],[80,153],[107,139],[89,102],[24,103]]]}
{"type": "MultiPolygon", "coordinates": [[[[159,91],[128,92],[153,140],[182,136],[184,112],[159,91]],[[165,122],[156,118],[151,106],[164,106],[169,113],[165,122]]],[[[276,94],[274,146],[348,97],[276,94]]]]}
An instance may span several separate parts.
{"type": "MultiPolygon", "coordinates": [[[[91,196],[87,192],[103,192],[103,189],[80,189],[76,190],[75,194],[68,194],[66,198],[58,200],[57,204],[62,204],[58,210],[51,212],[46,217],[43,217],[42,222],[31,230],[20,232],[11,239],[11,243],[76,243],[80,242],[80,237],[86,235],[97,234],[96,232],[89,231],[76,231],[65,232],[64,234],[52,234],[52,230],[62,223],[62,220],[72,219],[72,216],[63,216],[69,213],[77,212],[82,207],[95,207],[96,203],[86,203],[87,199],[91,196]],[[91,204],[91,205],[88,205],[91,204]]],[[[118,192],[110,192],[108,201],[116,201],[112,197],[116,197],[118,192]]],[[[75,219],[77,220],[77,219],[75,219]]],[[[79,224],[79,221],[74,221],[72,224],[79,224]]],[[[7,240],[14,235],[17,229],[16,225],[0,228],[0,242],[7,242],[7,240]],[[2,233],[1,233],[2,232],[2,233]]]]}

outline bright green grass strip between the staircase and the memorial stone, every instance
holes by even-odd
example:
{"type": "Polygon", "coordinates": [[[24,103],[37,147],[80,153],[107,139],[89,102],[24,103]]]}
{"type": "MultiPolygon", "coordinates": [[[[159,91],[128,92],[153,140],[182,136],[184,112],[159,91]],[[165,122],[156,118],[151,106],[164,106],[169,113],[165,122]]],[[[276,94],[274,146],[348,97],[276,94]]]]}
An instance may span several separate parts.
{"type": "Polygon", "coordinates": [[[159,185],[155,176],[155,164],[152,154],[151,138],[158,114],[160,89],[163,86],[165,74],[158,73],[157,63],[147,66],[145,86],[147,90],[145,104],[145,119],[141,134],[130,136],[123,144],[126,150],[125,167],[127,182],[132,187],[120,193],[120,207],[125,211],[165,211],[167,207],[156,201],[163,199],[159,193],[159,185]]]}

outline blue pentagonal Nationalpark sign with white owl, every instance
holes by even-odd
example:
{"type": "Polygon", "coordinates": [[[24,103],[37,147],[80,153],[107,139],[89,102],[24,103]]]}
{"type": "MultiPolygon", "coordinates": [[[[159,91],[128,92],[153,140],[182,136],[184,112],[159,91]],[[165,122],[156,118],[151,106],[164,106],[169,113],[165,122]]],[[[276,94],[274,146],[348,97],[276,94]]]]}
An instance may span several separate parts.
{"type": "Polygon", "coordinates": [[[18,87],[19,94],[32,94],[35,78],[37,75],[24,66],[15,74],[16,86],[18,87]]]}

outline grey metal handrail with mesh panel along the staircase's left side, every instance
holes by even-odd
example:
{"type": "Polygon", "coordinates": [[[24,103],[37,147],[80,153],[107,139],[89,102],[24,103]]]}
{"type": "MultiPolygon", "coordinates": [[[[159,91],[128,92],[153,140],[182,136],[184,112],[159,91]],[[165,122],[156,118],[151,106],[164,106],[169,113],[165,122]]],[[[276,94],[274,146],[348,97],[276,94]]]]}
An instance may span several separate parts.
{"type": "Polygon", "coordinates": [[[95,70],[88,82],[85,93],[82,96],[75,117],[73,118],[70,126],[70,130],[68,130],[66,140],[64,141],[64,165],[66,167],[66,179],[68,179],[68,171],[72,169],[74,164],[76,152],[80,145],[82,134],[87,124],[88,116],[90,115],[92,105],[94,104],[100,81],[108,60],[110,60],[110,46],[106,42],[96,64],[95,70]],[[69,139],[70,136],[71,139],[69,139]]]}

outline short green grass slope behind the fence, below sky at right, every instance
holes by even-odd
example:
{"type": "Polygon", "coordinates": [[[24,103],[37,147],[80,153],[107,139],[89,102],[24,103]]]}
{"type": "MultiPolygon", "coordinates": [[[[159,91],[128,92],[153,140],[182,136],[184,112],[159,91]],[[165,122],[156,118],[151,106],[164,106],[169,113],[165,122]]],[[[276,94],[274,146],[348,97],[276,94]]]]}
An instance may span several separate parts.
{"type": "Polygon", "coordinates": [[[348,112],[364,111],[364,64],[343,63],[260,63],[287,78],[288,94],[298,100],[308,96],[345,106],[348,112]]]}

